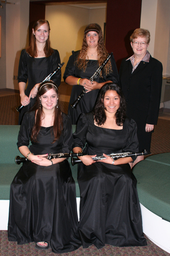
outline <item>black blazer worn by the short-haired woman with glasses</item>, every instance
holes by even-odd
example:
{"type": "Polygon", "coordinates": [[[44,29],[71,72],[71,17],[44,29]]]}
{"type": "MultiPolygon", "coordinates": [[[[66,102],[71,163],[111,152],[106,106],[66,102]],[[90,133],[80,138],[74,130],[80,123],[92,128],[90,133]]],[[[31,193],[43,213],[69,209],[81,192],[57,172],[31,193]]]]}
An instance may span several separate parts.
{"type": "Polygon", "coordinates": [[[150,56],[150,61],[141,61],[133,73],[132,68],[130,60],[122,60],[120,82],[127,115],[137,123],[156,125],[162,90],[162,63],[150,56]]]}

